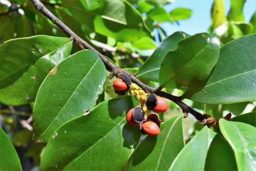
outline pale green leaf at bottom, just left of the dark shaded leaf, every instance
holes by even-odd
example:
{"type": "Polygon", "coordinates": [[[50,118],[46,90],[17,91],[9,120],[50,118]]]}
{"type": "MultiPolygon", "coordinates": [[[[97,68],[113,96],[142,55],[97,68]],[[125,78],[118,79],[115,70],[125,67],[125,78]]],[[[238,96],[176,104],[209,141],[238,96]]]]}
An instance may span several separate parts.
{"type": "Polygon", "coordinates": [[[204,170],[206,155],[216,134],[204,126],[181,150],[169,170],[204,170]]]}

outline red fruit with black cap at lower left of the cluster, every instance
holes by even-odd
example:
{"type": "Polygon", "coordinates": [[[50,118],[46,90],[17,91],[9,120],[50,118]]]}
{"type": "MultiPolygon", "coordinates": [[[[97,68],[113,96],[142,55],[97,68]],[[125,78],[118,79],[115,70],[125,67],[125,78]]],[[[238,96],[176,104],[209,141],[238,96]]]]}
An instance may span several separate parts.
{"type": "Polygon", "coordinates": [[[141,108],[133,108],[126,114],[126,122],[130,126],[137,126],[143,120],[144,116],[141,108]]]}

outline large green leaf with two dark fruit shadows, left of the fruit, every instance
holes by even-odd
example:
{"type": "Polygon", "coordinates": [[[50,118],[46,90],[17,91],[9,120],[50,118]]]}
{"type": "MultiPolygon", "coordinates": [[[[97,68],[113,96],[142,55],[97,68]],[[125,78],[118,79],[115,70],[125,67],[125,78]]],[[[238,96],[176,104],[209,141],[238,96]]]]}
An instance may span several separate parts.
{"type": "Polygon", "coordinates": [[[120,170],[139,142],[139,127],[126,124],[131,96],[104,101],[87,116],[63,124],[47,144],[41,170],[120,170]]]}

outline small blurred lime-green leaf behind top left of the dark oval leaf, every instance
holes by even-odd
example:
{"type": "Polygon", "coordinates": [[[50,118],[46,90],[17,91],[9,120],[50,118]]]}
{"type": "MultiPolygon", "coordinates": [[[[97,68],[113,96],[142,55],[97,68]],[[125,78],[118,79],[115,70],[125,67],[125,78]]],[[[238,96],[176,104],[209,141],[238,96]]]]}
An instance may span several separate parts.
{"type": "Polygon", "coordinates": [[[134,41],[132,45],[134,48],[138,49],[156,49],[157,47],[155,41],[148,36],[142,37],[139,40],[134,41]]]}

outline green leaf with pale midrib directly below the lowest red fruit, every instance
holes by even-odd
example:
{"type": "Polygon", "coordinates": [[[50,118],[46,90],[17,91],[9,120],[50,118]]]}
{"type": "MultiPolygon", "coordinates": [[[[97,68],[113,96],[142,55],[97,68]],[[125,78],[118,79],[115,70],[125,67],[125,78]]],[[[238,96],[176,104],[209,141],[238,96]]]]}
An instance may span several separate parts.
{"type": "Polygon", "coordinates": [[[133,154],[128,170],[167,170],[185,146],[182,118],[167,120],[158,136],[147,136],[133,154]]]}

